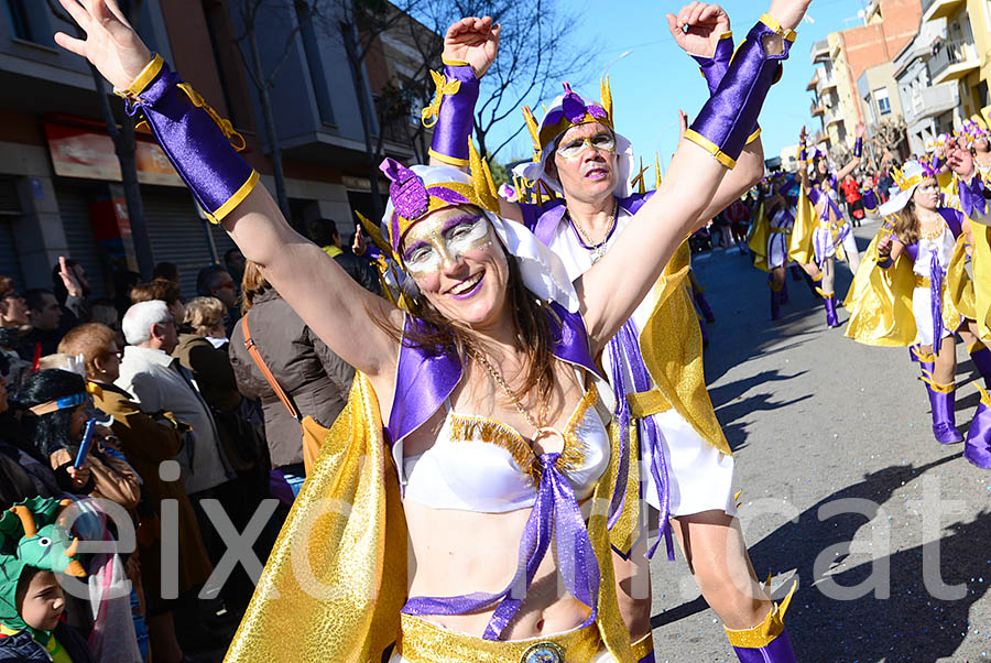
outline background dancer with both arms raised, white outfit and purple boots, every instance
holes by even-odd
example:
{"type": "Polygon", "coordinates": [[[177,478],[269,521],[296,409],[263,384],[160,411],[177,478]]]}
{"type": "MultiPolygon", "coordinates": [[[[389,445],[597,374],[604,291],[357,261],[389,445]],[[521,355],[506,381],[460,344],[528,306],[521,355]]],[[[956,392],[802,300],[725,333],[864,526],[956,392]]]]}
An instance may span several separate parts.
{"type": "MultiPolygon", "coordinates": [[[[863,153],[863,122],[858,122],[854,129],[857,140],[853,143],[853,159],[838,172],[831,172],[829,160],[818,148],[807,156],[805,141],[808,134],[805,127],[798,135],[798,176],[802,180],[802,194],[798,199],[798,214],[802,208],[810,205],[814,215],[813,222],[817,222],[815,230],[809,236],[815,261],[823,271],[820,293],[826,306],[826,324],[830,327],[839,327],[839,318],[836,315],[836,259],[846,259],[850,271],[854,274],[860,267],[860,252],[857,250],[857,241],[853,238],[850,224],[843,216],[839,206],[839,184],[847,175],[853,172],[860,164],[863,153]],[[806,166],[807,164],[807,166],[806,166]]],[[[801,224],[799,224],[801,225],[801,224]]]]}

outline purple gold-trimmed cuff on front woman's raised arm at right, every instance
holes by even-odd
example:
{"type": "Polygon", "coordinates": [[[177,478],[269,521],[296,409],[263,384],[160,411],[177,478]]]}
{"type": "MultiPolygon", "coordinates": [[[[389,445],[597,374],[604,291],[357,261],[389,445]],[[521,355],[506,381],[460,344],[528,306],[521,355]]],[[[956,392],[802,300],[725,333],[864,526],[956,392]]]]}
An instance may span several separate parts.
{"type": "Polygon", "coordinates": [[[782,30],[766,14],[762,17],[740,44],[719,89],[703,107],[685,137],[732,169],[753,133],[761,106],[793,41],[794,32],[782,30]],[[764,53],[764,37],[771,34],[783,37],[784,47],[780,55],[764,53]]]}

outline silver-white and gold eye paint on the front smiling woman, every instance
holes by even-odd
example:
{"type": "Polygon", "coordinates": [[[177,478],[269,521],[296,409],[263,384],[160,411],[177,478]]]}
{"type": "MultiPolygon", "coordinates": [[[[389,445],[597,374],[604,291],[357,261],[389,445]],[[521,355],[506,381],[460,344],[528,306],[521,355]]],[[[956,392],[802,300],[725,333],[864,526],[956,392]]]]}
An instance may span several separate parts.
{"type": "Polygon", "coordinates": [[[403,249],[403,264],[414,279],[440,271],[465,253],[492,243],[489,221],[483,215],[427,218],[410,229],[403,249]]]}

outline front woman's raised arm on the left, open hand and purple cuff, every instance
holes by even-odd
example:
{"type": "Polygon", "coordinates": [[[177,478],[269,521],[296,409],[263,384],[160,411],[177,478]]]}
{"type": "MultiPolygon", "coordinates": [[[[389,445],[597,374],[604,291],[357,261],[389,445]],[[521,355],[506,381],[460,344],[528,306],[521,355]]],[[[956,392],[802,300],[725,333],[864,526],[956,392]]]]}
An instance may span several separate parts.
{"type": "Polygon", "coordinates": [[[142,112],[200,206],[327,346],[373,380],[391,380],[399,341],[373,318],[400,326],[402,313],[288,226],[264,187],[255,186],[258,174],[230,146],[231,133],[221,132],[203,99],[179,88],[167,65],[152,58],[116,0],[59,2],[86,39],[59,32],[55,41],[86,57],[142,112]]]}

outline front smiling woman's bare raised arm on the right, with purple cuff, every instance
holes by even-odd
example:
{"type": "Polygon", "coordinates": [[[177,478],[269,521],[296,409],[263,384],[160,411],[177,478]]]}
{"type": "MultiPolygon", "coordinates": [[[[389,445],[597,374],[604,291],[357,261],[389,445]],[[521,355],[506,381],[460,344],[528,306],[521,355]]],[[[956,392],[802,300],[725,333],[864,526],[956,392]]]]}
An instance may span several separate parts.
{"type": "Polygon", "coordinates": [[[601,348],[646,296],[678,246],[698,226],[727,167],[743,151],[792,31],[810,0],[774,0],[733,58],[719,89],[689,128],[657,193],[616,244],[577,282],[592,343],[601,348]],[[714,159],[715,156],[715,159],[714,159]]]}

